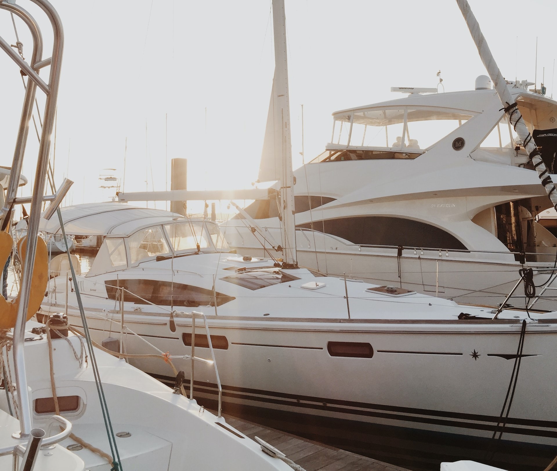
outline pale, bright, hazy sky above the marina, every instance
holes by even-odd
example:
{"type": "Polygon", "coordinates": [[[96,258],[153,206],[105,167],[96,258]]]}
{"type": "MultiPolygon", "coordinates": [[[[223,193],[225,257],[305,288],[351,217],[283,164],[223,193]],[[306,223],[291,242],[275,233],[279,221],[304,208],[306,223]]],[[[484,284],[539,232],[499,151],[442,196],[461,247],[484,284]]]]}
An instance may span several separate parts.
{"type": "MultiPolygon", "coordinates": [[[[557,2],[469,2],[506,79],[534,81],[538,37],[538,84],[545,67],[551,95],[557,2]]],[[[114,173],[126,192],[164,190],[167,181],[169,189],[175,157],[188,159],[188,189],[251,187],[274,67],[270,1],[52,3],[65,28],[55,173],[57,184],[64,176],[75,181],[67,204],[108,200],[114,189],[99,189],[107,185],[100,174],[114,173]]],[[[392,86],[435,87],[438,70],[447,92],[473,89],[486,73],[454,1],[285,3],[295,168],[302,163],[301,104],[308,161],[330,141],[335,110],[404,96],[392,86]]],[[[28,57],[30,37],[21,21],[16,25],[28,57]]],[[[15,44],[5,11],[0,35],[15,44]]],[[[0,73],[0,165],[9,166],[24,91],[3,53],[0,73]]],[[[37,97],[43,102],[40,91],[37,97]]],[[[24,169],[30,180],[36,149],[32,130],[24,169]]]]}

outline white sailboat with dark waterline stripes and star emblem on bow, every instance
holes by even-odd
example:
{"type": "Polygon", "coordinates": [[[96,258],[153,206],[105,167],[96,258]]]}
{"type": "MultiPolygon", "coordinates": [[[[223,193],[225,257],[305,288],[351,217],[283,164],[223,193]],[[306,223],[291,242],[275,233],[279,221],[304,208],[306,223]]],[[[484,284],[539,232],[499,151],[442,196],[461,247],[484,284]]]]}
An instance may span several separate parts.
{"type": "MultiPolygon", "coordinates": [[[[284,28],[281,2],[273,3],[273,17],[275,28],[284,28]]],[[[277,154],[288,158],[290,129],[278,96],[285,90],[277,76],[277,154]]],[[[287,202],[292,185],[284,178],[287,202]]],[[[291,217],[286,209],[284,219],[291,217]]],[[[90,227],[91,219],[84,214],[72,224],[90,227]]],[[[180,357],[193,355],[194,339],[196,351],[212,345],[229,408],[280,412],[317,426],[325,439],[331,430],[356,434],[353,442],[360,443],[379,436],[375,446],[383,450],[390,434],[425,440],[441,433],[445,443],[465,439],[473,446],[501,434],[512,449],[554,445],[557,415],[545,405],[557,386],[555,312],[458,305],[394,286],[316,277],[296,268],[291,235],[282,236],[283,264],[230,253],[207,220],[150,217],[102,230],[90,272],[77,277],[92,335],[100,341],[123,323],[124,351],[147,353],[140,336],[169,351],[180,368],[187,365],[180,357]],[[193,310],[203,312],[209,336],[199,327],[192,335],[193,310]]],[[[80,326],[65,277],[53,278],[47,291],[43,315],[67,311],[80,326]]],[[[173,380],[158,361],[131,361],[173,380]]],[[[218,398],[211,367],[197,367],[192,382],[196,394],[218,398]]]]}

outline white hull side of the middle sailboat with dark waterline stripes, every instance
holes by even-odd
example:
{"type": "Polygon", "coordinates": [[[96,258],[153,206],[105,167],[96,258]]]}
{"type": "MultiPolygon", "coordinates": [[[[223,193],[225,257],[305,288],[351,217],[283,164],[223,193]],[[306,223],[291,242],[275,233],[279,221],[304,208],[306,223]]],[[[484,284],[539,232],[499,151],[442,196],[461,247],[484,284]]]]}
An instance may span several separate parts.
{"type": "MultiPolygon", "coordinates": [[[[110,318],[119,322],[119,313],[88,311],[97,341],[108,336],[110,318]]],[[[79,317],[69,314],[70,322],[79,325],[79,317]]],[[[518,321],[208,318],[212,339],[223,336],[227,342],[226,349],[215,349],[224,401],[482,438],[495,431],[521,328],[518,321]],[[369,342],[373,357],[331,356],[330,342],[369,342]]],[[[176,319],[176,332],[163,314],[126,312],[125,324],[162,351],[191,352],[182,341],[191,328],[187,319],[176,319]]],[[[504,440],[556,443],[557,408],[551,406],[557,387],[555,332],[557,320],[527,327],[504,440]],[[542,377],[546,381],[539,381],[542,377]]],[[[198,334],[203,336],[201,330],[198,334]]],[[[126,351],[152,349],[128,336],[126,351]]],[[[197,347],[196,355],[208,357],[209,351],[197,347]]],[[[160,360],[134,365],[159,377],[173,376],[160,360]]],[[[188,376],[189,362],[175,360],[175,366],[188,376]]],[[[214,399],[212,367],[196,365],[195,379],[206,384],[200,393],[214,399]]]]}

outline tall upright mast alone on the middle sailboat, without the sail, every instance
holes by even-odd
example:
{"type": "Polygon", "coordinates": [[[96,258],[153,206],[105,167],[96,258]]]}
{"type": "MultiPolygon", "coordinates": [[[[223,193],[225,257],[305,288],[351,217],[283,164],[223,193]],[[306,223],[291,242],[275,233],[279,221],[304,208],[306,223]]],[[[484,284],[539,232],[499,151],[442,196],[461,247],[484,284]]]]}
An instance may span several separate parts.
{"type": "MultiPolygon", "coordinates": [[[[273,32],[275,36],[275,78],[272,101],[276,117],[281,116],[282,175],[280,195],[282,230],[284,233],[285,267],[296,267],[296,227],[294,222],[294,175],[292,174],[292,142],[290,136],[290,100],[286,58],[286,17],[284,0],[273,0],[273,32]]],[[[278,123],[277,123],[278,124],[278,123]]],[[[276,135],[276,134],[275,134],[276,135]]]]}

